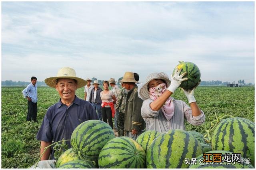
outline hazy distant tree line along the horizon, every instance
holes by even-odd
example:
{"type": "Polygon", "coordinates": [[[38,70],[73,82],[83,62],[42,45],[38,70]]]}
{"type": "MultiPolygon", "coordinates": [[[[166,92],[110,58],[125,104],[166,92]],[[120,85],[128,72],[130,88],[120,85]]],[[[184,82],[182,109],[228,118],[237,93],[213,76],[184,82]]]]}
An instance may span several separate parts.
{"type": "MultiPolygon", "coordinates": [[[[122,80],[123,77],[118,78],[118,80],[116,80],[117,82],[122,80]]],[[[92,83],[94,82],[94,80],[97,80],[97,78],[93,77],[92,78],[92,83]]],[[[104,82],[104,80],[98,80],[99,84],[102,85],[102,83],[104,82]]],[[[212,81],[201,81],[200,86],[227,86],[227,84],[238,84],[239,86],[252,86],[254,84],[252,83],[248,83],[246,84],[246,82],[244,80],[238,80],[237,82],[233,81],[233,82],[222,82],[219,80],[212,80],[212,81]]],[[[2,86],[27,86],[28,84],[30,84],[30,82],[22,82],[22,81],[12,81],[12,80],[5,80],[2,81],[2,86]]],[[[47,86],[45,84],[44,81],[37,81],[36,82],[37,86],[47,86]]]]}

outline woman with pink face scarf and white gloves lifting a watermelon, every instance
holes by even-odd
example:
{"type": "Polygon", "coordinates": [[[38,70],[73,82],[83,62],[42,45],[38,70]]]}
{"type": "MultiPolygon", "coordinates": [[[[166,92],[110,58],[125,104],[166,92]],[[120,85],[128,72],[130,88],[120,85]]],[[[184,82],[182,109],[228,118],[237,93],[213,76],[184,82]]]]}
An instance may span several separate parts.
{"type": "Polygon", "coordinates": [[[204,123],[204,112],[198,108],[194,98],[194,90],[200,82],[190,90],[183,89],[190,107],[185,102],[170,97],[181,82],[187,80],[182,78],[186,72],[180,75],[180,71],[181,69],[175,70],[171,81],[163,72],[149,74],[146,78],[139,93],[144,100],[141,115],[146,122],[147,131],[155,130],[162,133],[170,129],[186,130],[184,119],[192,125],[204,123]]]}

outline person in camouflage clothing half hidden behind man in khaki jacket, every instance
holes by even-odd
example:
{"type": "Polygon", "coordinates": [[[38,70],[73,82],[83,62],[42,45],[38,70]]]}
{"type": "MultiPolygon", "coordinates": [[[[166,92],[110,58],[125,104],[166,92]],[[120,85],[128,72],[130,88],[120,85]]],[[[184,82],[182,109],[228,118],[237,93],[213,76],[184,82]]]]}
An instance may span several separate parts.
{"type": "Polygon", "coordinates": [[[127,93],[121,82],[122,88],[118,92],[118,97],[116,99],[116,111],[119,111],[118,119],[117,119],[117,129],[118,129],[118,137],[124,136],[124,111],[126,106],[126,98],[127,93]]]}

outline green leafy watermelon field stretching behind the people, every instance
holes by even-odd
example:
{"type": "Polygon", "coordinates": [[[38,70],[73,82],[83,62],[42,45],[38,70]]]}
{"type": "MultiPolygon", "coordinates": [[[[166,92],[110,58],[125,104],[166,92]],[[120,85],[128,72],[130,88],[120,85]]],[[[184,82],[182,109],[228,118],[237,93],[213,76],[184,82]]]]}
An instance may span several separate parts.
{"type": "MultiPolygon", "coordinates": [[[[38,123],[27,122],[27,100],[22,96],[24,88],[2,87],[1,168],[28,168],[37,162],[40,157],[40,141],[36,140],[36,133],[48,107],[59,100],[58,92],[54,88],[39,87],[38,123]]],[[[186,130],[205,135],[212,122],[216,121],[216,115],[232,115],[254,122],[254,93],[252,86],[198,86],[195,98],[206,115],[206,121],[201,126],[186,123],[186,130]]],[[[76,95],[83,99],[84,89],[78,89],[76,95]]],[[[187,102],[181,90],[176,90],[173,97],[187,102]]]]}

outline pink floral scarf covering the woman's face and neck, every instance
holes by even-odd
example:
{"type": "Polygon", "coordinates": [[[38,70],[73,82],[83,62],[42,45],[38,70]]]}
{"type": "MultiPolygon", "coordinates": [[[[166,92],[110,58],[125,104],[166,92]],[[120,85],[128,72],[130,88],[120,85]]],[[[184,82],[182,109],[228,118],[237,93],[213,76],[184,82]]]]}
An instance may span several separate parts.
{"type": "MultiPolygon", "coordinates": [[[[152,87],[149,89],[149,93],[150,93],[150,99],[152,100],[156,100],[159,96],[162,95],[162,93],[166,90],[166,85],[165,83],[159,84],[156,87],[152,87]]],[[[168,121],[170,121],[170,119],[172,118],[172,116],[174,115],[174,104],[173,104],[173,98],[169,97],[165,104],[161,107],[164,116],[166,117],[166,119],[168,121]]]]}

